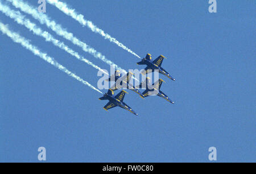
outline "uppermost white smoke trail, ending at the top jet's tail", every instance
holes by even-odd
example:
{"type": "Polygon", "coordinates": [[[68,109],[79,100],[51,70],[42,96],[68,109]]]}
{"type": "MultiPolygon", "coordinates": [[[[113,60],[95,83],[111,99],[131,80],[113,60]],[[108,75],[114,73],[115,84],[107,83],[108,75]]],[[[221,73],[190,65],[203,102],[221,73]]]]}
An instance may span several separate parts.
{"type": "Polygon", "coordinates": [[[125,49],[126,51],[130,52],[134,56],[141,59],[141,57],[139,57],[135,52],[131,51],[131,49],[127,48],[125,45],[118,42],[117,39],[113,38],[109,34],[106,34],[103,30],[101,30],[96,25],[94,25],[90,20],[84,19],[84,15],[77,14],[75,9],[70,9],[66,3],[60,2],[58,0],[47,0],[47,2],[51,3],[51,5],[57,7],[57,9],[59,9],[60,11],[65,13],[66,15],[71,16],[73,19],[77,20],[77,22],[79,22],[82,26],[86,26],[86,27],[90,28],[90,30],[92,30],[93,32],[96,32],[97,34],[100,34],[105,39],[108,39],[110,42],[113,42],[113,43],[117,44],[119,47],[125,49]]]}

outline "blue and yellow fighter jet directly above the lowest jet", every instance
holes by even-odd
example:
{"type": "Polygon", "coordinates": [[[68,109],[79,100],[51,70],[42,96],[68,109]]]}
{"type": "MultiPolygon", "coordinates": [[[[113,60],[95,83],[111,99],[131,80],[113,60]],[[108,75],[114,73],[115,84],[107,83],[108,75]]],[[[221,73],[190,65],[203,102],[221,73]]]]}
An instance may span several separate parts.
{"type": "Polygon", "coordinates": [[[127,74],[125,74],[125,76],[121,77],[120,72],[117,70],[117,71],[115,71],[114,74],[112,74],[112,76],[110,76],[108,79],[106,79],[106,81],[114,81],[115,82],[115,84],[110,88],[113,91],[122,89],[123,87],[125,87],[125,88],[130,89],[133,92],[139,94],[139,96],[141,98],[144,98],[142,93],[139,92],[139,90],[136,89],[132,84],[130,84],[131,76],[133,76],[133,73],[128,72],[127,74]]]}

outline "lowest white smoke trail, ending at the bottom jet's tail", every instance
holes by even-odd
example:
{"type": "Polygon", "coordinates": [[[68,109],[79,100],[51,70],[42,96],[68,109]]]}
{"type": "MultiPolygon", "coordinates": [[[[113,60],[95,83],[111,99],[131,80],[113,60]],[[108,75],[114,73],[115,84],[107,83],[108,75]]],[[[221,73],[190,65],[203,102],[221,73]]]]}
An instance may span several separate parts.
{"type": "Polygon", "coordinates": [[[100,90],[95,88],[93,85],[89,84],[89,82],[87,82],[85,80],[82,80],[81,77],[76,76],[76,74],[72,73],[67,68],[63,67],[63,65],[57,63],[57,61],[55,59],[48,56],[46,53],[40,52],[40,50],[37,47],[30,44],[29,40],[27,40],[26,38],[23,38],[22,36],[20,36],[16,32],[10,31],[9,28],[5,24],[3,24],[2,22],[0,22],[0,30],[2,31],[3,34],[9,36],[13,40],[13,42],[21,44],[22,47],[30,50],[32,53],[34,53],[34,55],[39,56],[43,60],[47,61],[49,64],[51,64],[54,67],[60,69],[64,73],[67,73],[69,76],[75,78],[76,80],[82,82],[83,84],[85,84],[85,85],[89,86],[90,88],[96,90],[97,92],[103,94],[102,92],[100,92],[100,90]]]}

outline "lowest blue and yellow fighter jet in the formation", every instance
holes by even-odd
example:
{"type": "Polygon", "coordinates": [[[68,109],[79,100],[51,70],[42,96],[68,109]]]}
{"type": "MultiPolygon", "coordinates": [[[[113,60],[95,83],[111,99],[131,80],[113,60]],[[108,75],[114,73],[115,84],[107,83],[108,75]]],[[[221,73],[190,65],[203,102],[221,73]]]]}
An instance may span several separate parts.
{"type": "Polygon", "coordinates": [[[109,89],[108,93],[105,93],[103,97],[99,98],[99,100],[109,100],[109,102],[103,107],[106,111],[112,109],[115,106],[119,106],[125,110],[130,111],[134,115],[138,115],[133,109],[131,109],[130,106],[123,102],[123,98],[125,98],[126,93],[127,92],[125,92],[125,90],[122,90],[116,96],[114,96],[113,90],[109,89]]]}

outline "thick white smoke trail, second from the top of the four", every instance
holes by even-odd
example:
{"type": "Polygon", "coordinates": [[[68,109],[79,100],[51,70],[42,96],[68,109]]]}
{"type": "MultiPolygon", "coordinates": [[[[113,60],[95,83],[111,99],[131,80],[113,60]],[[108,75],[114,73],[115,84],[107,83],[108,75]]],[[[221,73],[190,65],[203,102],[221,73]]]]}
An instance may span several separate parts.
{"type": "Polygon", "coordinates": [[[63,38],[70,40],[73,44],[81,47],[85,52],[90,53],[90,55],[93,55],[94,57],[101,59],[105,63],[114,66],[118,70],[127,73],[124,69],[121,67],[118,67],[118,65],[114,64],[112,61],[106,59],[104,55],[102,55],[100,52],[97,52],[94,48],[90,47],[84,42],[81,42],[78,38],[73,36],[71,32],[66,31],[63,29],[60,24],[57,24],[54,20],[51,20],[46,14],[39,13],[38,9],[36,7],[31,7],[31,5],[28,5],[28,3],[23,2],[22,0],[7,0],[13,4],[16,8],[22,10],[24,13],[32,15],[33,18],[36,20],[39,20],[41,24],[46,24],[48,28],[51,28],[54,32],[56,32],[57,35],[63,36],[63,38]]]}

